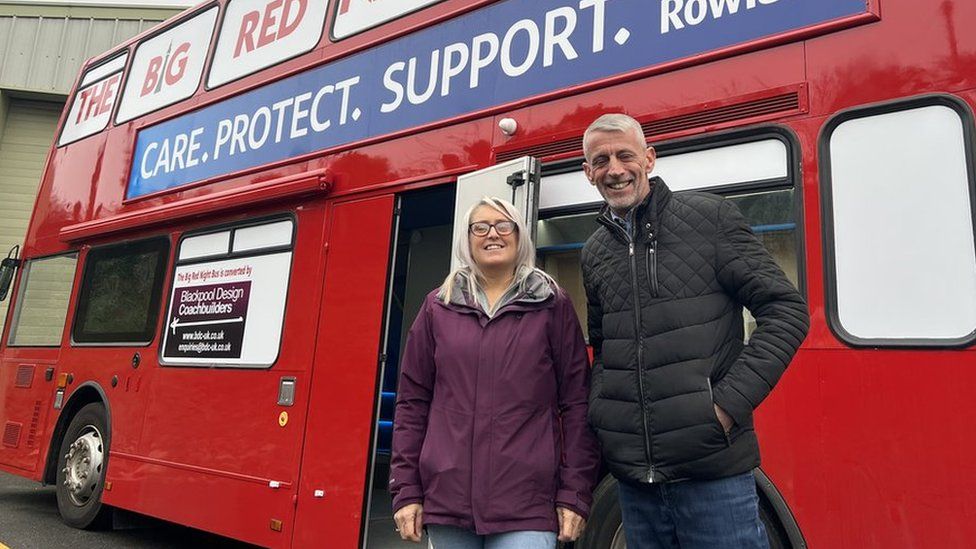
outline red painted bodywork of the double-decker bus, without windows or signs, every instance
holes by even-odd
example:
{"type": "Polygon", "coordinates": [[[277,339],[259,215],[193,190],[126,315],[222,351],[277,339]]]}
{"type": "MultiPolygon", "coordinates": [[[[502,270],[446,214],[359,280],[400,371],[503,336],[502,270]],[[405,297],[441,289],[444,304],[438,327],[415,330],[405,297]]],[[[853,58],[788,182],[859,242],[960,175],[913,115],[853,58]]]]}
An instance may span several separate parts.
{"type": "MultiPolygon", "coordinates": [[[[18,448],[0,447],[0,468],[44,477],[60,415],[52,407],[53,384],[42,378],[50,366],[73,374],[67,399],[93,383],[109,400],[108,503],[271,547],[354,547],[362,535],[394,194],[488,166],[499,153],[578,139],[604,112],[651,121],[793,89],[804,108],[783,117],[723,121],[665,136],[775,123],[799,145],[813,324],[757,417],[764,470],[811,547],[969,546],[976,539],[970,457],[976,442],[969,435],[976,354],[855,350],[831,333],[818,140],[830,116],[858,105],[926,93],[954,94],[976,105],[976,33],[969,32],[976,3],[869,0],[869,15],[840,24],[124,199],[140,127],[487,3],[445,0],[337,43],[325,36],[308,54],[278,67],[212,91],[201,86],[182,104],[52,149],[23,247],[28,258],[80,250],[81,265],[92,244],[166,234],[175,248],[187,230],[295,212],[281,356],[261,371],[161,368],[158,338],[139,349],[83,348],[72,346],[66,331],[60,348],[17,348],[6,346],[4,334],[0,419],[30,425],[35,403],[41,412],[34,447],[22,431],[18,448]],[[515,118],[518,133],[501,134],[502,117],[515,118]],[[323,193],[326,170],[331,187],[323,193]],[[138,370],[130,365],[136,351],[143,358],[138,370]],[[29,388],[14,387],[22,364],[35,366],[29,388]],[[123,382],[112,389],[114,375],[123,382]],[[276,404],[283,375],[298,378],[298,404],[287,410],[276,404]],[[281,411],[290,414],[286,427],[278,424],[281,411]],[[316,489],[325,496],[315,498],[316,489]],[[273,531],[271,520],[281,520],[283,531],[273,531]]],[[[551,159],[576,155],[563,151],[551,159]]]]}

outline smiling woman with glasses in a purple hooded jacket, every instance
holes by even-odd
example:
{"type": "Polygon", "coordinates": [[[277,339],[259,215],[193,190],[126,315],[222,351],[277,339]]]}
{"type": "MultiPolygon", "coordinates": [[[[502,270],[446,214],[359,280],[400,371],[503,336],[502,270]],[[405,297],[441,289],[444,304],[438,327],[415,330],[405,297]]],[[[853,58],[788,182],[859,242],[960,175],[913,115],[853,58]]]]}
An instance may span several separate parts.
{"type": "Polygon", "coordinates": [[[435,549],[552,548],[579,536],[599,466],[583,335],[514,206],[486,197],[465,218],[461,267],[403,354],[394,520],[406,540],[426,527],[435,549]]]}

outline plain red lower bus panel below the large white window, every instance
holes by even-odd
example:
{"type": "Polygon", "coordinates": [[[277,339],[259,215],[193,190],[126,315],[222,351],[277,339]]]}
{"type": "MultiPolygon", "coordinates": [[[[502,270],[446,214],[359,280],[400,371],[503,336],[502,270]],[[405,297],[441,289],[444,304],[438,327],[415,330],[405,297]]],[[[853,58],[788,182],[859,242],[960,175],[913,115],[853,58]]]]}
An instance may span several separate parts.
{"type": "Polygon", "coordinates": [[[948,350],[797,355],[756,425],[763,469],[810,547],[971,546],[976,442],[965,410],[974,358],[948,350]]]}

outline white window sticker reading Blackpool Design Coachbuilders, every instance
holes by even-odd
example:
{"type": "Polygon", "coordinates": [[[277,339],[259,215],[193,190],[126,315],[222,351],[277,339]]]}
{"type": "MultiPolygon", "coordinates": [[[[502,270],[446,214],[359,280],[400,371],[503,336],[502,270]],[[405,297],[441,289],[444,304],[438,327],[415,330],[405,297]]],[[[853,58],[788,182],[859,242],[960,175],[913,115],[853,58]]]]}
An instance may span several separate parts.
{"type": "Polygon", "coordinates": [[[176,268],[163,361],[263,368],[278,357],[291,252],[176,268]]]}

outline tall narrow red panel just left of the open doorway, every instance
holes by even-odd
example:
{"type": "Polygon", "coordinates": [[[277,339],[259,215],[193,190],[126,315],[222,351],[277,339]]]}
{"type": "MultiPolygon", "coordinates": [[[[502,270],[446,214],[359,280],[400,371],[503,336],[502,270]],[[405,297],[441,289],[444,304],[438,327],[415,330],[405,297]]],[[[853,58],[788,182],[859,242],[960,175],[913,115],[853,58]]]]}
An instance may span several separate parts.
{"type": "Polygon", "coordinates": [[[293,547],[359,544],[393,202],[333,210],[293,547]]]}

